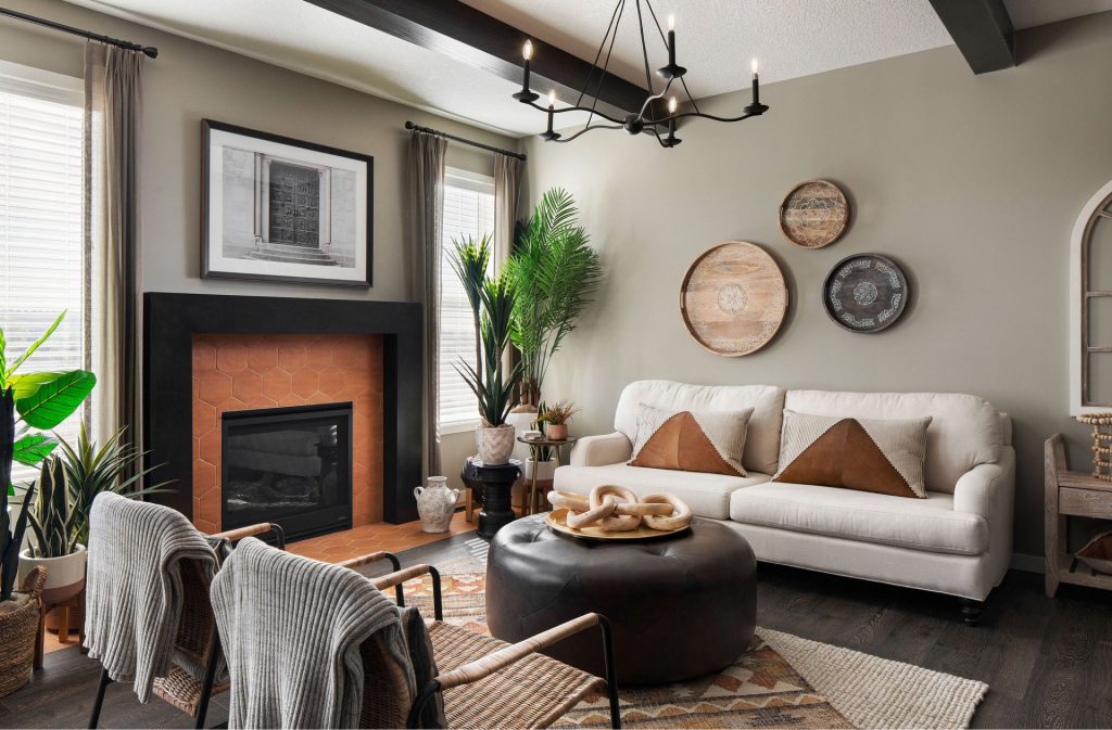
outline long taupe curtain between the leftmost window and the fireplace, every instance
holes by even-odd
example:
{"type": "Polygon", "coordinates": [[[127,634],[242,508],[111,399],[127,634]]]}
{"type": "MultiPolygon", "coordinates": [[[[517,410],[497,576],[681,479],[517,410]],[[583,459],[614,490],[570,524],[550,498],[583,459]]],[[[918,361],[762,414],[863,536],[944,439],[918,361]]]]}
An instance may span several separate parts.
{"type": "MultiPolygon", "coordinates": [[[[142,53],[85,48],[85,333],[92,433],[142,443],[138,127],[142,53]]],[[[87,412],[88,417],[88,412],[87,412]]]]}

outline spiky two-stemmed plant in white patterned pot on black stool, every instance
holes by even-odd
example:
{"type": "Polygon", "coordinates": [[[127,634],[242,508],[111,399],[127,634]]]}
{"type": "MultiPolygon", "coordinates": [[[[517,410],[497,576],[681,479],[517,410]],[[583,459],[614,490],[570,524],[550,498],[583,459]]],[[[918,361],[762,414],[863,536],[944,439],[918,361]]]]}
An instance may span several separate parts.
{"type": "Polygon", "coordinates": [[[484,261],[489,261],[489,237],[478,243],[456,243],[453,268],[477,314],[478,327],[476,363],[460,359],[455,367],[479,402],[480,424],[475,430],[479,459],[497,466],[507,463],[514,450],[514,427],[506,423],[506,417],[514,406],[523,366],[518,362],[507,372],[504,361],[515,300],[513,281],[505,274],[487,274],[485,266],[478,266],[484,261]]]}

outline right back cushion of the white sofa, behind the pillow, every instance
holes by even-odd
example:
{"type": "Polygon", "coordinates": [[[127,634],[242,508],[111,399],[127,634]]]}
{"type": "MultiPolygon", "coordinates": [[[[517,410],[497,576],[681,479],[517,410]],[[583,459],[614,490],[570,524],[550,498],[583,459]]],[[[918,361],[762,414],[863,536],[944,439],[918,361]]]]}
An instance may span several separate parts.
{"type": "Polygon", "coordinates": [[[992,403],[960,393],[852,393],[790,390],[785,408],[840,418],[931,417],[926,430],[926,489],[953,493],[957,479],[982,463],[996,463],[1003,443],[992,403]]]}

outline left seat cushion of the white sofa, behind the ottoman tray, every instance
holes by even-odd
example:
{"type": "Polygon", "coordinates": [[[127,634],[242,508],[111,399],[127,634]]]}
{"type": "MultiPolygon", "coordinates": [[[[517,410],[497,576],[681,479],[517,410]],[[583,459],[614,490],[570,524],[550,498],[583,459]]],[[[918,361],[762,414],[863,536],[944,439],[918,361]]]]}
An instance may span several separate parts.
{"type": "Polygon", "coordinates": [[[749,472],[748,477],[727,477],[616,463],[608,467],[560,467],[556,470],[553,486],[576,494],[589,494],[599,484],[618,484],[638,497],[671,492],[687,502],[696,517],[725,520],[729,518],[731,493],[766,481],[768,474],[755,472],[749,472]]]}

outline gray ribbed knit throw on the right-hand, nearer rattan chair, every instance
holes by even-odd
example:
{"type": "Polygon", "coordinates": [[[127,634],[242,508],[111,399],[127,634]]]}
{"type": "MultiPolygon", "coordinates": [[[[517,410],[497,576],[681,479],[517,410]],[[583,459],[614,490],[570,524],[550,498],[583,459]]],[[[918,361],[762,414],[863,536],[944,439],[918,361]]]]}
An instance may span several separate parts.
{"type": "Polygon", "coordinates": [[[360,644],[378,631],[413,696],[398,609],[354,570],[247,538],[211,596],[231,672],[229,728],[358,727],[360,644]]]}

